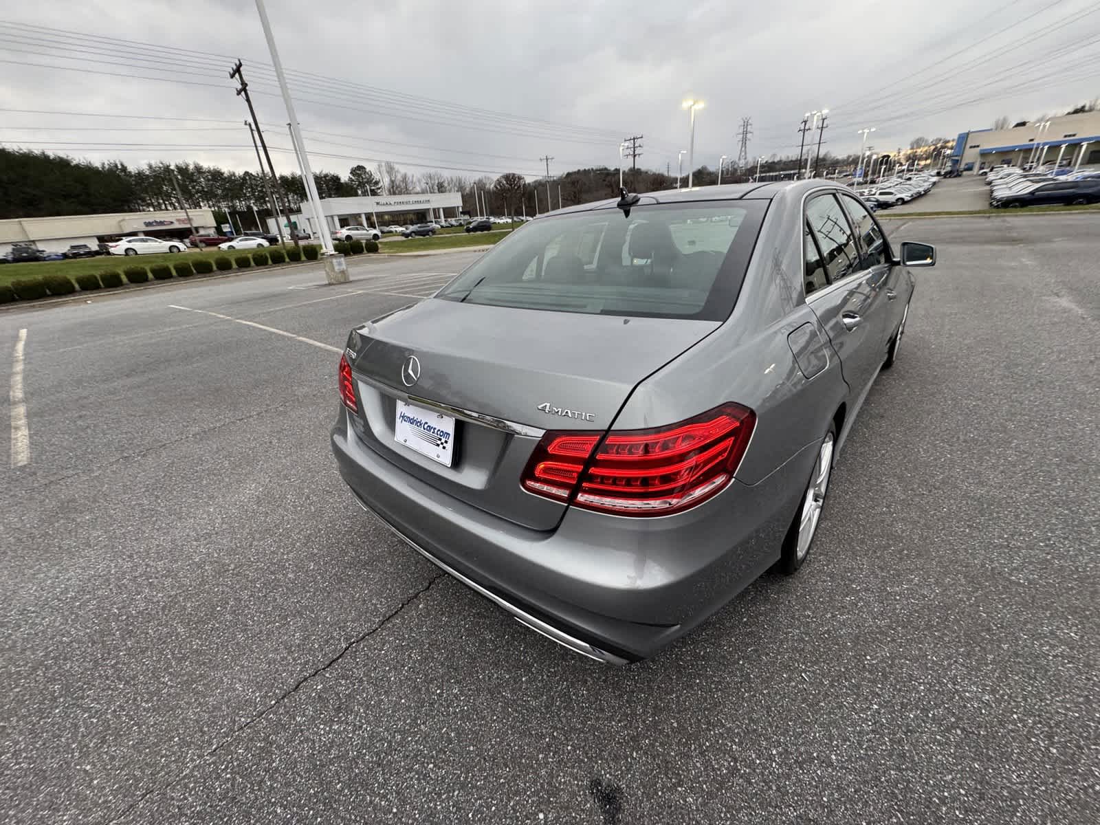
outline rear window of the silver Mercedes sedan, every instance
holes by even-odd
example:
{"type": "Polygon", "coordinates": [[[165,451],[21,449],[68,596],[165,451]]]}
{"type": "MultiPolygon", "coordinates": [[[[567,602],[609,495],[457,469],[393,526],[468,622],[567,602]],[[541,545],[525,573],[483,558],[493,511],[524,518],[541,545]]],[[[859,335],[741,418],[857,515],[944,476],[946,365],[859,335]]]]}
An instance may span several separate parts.
{"type": "Polygon", "coordinates": [[[561,312],[725,320],[767,201],[640,205],[534,220],[438,296],[561,312]]]}

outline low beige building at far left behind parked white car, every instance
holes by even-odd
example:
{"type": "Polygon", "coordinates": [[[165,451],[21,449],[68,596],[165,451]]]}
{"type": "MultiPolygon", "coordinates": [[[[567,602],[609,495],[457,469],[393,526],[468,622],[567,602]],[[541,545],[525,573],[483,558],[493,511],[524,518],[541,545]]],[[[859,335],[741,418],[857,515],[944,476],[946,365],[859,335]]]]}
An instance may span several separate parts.
{"type": "MultiPolygon", "coordinates": [[[[199,232],[216,232],[213,212],[191,209],[199,232]]],[[[0,220],[0,255],[13,245],[37,246],[44,252],[65,252],[74,243],[95,248],[120,235],[187,238],[191,228],[187,216],[170,212],[113,212],[110,215],[65,215],[56,218],[10,218],[0,220]]]]}

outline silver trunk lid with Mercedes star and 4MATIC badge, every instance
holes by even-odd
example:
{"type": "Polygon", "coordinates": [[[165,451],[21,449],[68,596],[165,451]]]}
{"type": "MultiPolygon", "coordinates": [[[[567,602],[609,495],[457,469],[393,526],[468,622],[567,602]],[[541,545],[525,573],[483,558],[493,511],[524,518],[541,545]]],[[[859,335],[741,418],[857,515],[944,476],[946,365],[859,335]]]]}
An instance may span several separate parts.
{"type": "Polygon", "coordinates": [[[352,424],[370,448],[443,493],[550,530],[565,505],[519,485],[541,431],[607,429],[642,378],[718,326],[427,300],[352,333],[361,407],[352,424]],[[450,466],[396,440],[398,402],[454,414],[450,466]]]}

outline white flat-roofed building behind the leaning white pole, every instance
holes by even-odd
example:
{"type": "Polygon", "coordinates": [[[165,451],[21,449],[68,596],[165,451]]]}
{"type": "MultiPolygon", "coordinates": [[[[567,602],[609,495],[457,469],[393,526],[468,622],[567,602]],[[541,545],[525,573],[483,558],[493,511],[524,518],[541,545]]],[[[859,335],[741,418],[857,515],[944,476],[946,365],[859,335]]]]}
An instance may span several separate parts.
{"type": "MultiPolygon", "coordinates": [[[[317,221],[308,202],[290,220],[299,229],[317,234],[317,221]]],[[[329,231],[340,227],[387,227],[392,224],[425,223],[441,218],[458,218],[462,211],[462,194],[457,191],[425,193],[420,195],[378,195],[365,198],[322,198],[321,215],[329,231]]],[[[278,224],[267,219],[273,234],[278,224]]]]}

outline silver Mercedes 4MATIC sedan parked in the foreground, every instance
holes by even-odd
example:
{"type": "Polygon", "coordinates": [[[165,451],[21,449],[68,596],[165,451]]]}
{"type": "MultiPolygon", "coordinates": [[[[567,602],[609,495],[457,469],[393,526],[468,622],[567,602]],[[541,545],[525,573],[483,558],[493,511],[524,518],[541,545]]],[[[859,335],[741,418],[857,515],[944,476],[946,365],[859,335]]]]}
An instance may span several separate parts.
{"type": "Polygon", "coordinates": [[[820,182],[552,212],[352,330],[332,450],[444,571],[578,652],[641,659],[805,561],[910,267],[934,263],[820,182]]]}

